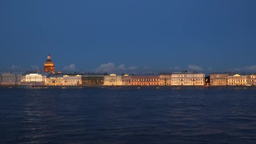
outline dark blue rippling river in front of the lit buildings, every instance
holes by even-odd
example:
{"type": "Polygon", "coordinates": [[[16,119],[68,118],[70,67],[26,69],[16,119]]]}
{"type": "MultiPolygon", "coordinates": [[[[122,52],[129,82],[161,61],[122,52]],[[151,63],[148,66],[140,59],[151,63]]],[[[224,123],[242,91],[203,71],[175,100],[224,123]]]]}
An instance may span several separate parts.
{"type": "Polygon", "coordinates": [[[0,143],[256,144],[256,89],[0,88],[0,143]]]}

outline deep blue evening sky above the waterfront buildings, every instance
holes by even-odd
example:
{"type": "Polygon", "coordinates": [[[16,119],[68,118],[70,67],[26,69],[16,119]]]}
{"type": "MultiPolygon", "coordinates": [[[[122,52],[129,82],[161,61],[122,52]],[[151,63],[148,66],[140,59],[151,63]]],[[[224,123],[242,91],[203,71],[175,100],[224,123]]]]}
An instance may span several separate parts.
{"type": "Polygon", "coordinates": [[[255,0],[1,0],[0,69],[43,69],[49,53],[56,70],[109,62],[126,70],[254,69],[255,7],[255,0]]]}

